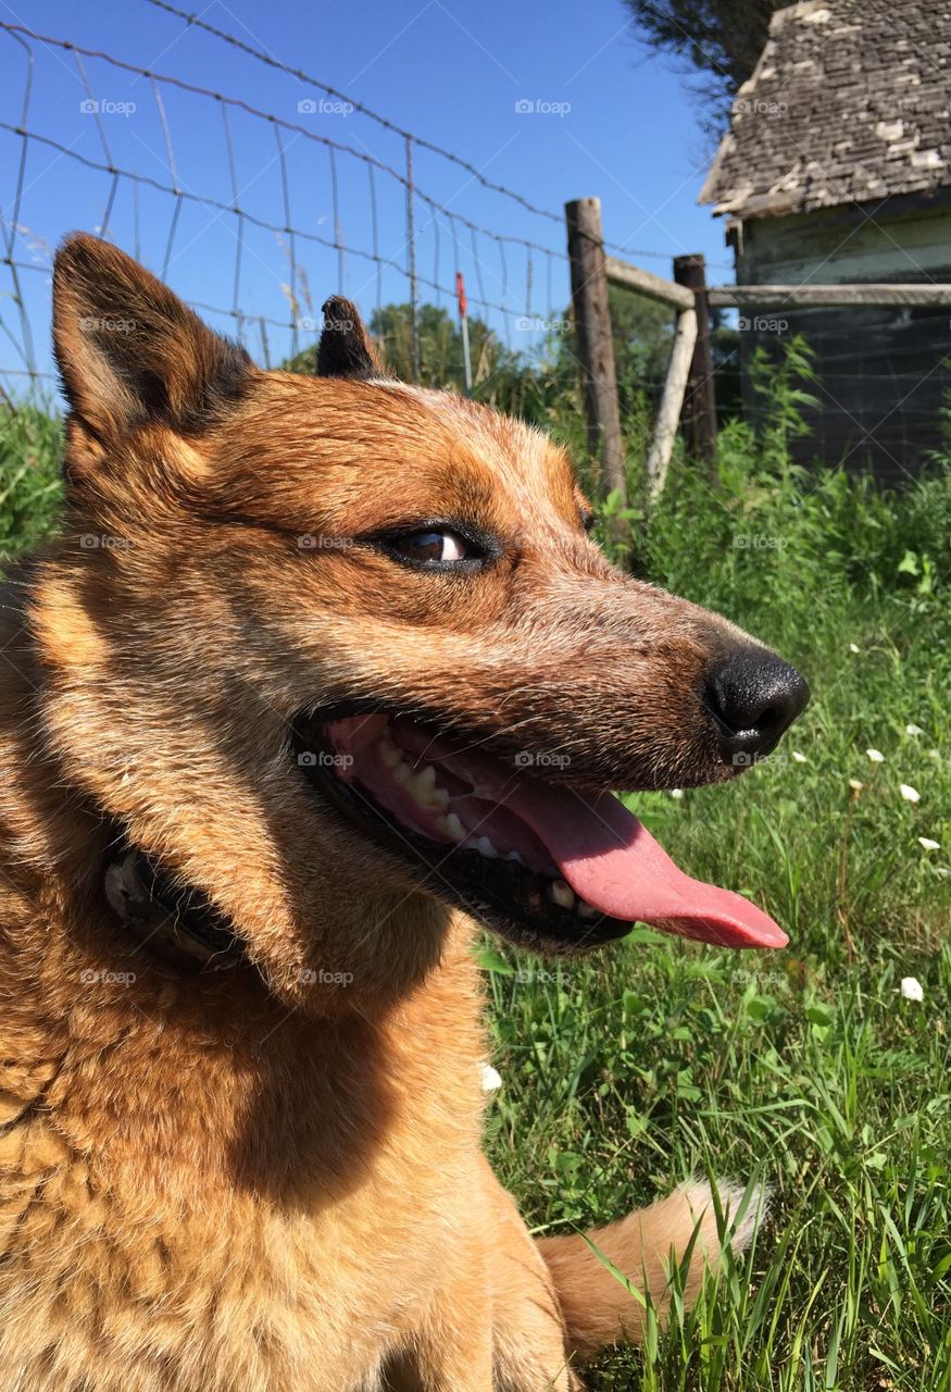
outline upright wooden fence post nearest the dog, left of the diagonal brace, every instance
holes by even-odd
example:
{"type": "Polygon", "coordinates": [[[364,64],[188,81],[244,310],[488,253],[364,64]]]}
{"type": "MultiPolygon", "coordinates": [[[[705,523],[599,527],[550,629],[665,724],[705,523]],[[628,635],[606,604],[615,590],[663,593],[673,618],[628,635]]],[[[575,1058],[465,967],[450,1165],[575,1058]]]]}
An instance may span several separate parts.
{"type": "MultiPolygon", "coordinates": [[[[588,447],[601,462],[601,482],[606,493],[617,491],[627,503],[624,445],[617,408],[615,342],[610,335],[608,276],[601,231],[601,199],[578,198],[564,205],[569,259],[571,263],[571,303],[574,333],[584,377],[588,447]]],[[[623,523],[613,529],[623,540],[623,523]]]]}

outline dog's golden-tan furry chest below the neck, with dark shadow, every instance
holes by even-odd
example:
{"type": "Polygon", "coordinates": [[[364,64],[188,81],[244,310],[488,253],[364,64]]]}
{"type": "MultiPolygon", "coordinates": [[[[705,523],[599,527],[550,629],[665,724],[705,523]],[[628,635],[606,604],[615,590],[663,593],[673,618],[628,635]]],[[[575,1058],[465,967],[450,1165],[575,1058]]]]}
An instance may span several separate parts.
{"type": "Polygon", "coordinates": [[[108,1089],[54,1084],[0,1141],[0,1385],[373,1389],[477,1153],[471,1041],[420,1043],[252,1089],[224,1141],[197,1080],[136,1097],[121,1051],[108,1089]]]}

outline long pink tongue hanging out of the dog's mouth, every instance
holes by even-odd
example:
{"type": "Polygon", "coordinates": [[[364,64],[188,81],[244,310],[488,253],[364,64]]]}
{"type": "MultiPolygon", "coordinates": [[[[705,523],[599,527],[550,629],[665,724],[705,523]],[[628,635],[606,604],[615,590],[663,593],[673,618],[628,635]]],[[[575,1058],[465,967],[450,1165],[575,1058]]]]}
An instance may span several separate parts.
{"type": "Polygon", "coordinates": [[[781,948],[788,938],[742,895],[691,880],[610,793],[588,796],[521,777],[505,805],[528,823],[576,894],[615,919],[731,948],[781,948]]]}

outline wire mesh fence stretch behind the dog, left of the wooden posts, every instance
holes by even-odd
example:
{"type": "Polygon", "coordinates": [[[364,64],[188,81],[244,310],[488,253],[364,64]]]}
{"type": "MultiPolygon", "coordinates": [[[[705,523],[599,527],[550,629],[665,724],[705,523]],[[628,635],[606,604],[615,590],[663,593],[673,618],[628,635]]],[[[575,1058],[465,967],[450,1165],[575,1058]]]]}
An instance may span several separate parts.
{"type": "MultiPolygon", "coordinates": [[[[143,259],[264,366],[314,341],[320,303],[336,291],[368,316],[409,306],[418,376],[421,308],[450,323],[457,271],[473,313],[510,351],[531,351],[563,323],[560,212],[203,18],[143,3],[268,68],[277,100],[257,106],[193,75],[0,21],[7,387],[54,380],[49,277],[71,227],[143,259]]],[[[453,337],[444,338],[450,354],[453,337]]],[[[455,366],[430,370],[449,377],[455,366]]]]}

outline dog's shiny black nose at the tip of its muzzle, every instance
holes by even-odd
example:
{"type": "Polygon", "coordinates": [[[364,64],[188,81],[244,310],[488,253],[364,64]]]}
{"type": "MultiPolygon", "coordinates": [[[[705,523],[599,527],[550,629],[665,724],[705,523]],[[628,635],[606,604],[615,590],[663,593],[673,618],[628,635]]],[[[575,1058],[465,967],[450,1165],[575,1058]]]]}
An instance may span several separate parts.
{"type": "Polygon", "coordinates": [[[706,709],[717,722],[720,749],[740,768],[767,754],[808,700],[795,667],[755,647],[717,663],[706,677],[706,709]]]}

